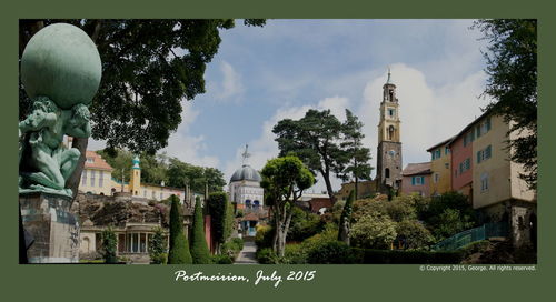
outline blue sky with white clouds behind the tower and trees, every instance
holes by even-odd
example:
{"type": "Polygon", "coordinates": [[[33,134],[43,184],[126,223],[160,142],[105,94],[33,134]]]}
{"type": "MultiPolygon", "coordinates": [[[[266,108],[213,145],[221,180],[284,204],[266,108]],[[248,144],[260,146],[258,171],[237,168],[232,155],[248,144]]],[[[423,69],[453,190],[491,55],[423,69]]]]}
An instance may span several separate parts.
{"type": "MultiPolygon", "coordinates": [[[[226,181],[248,163],[257,170],[278,155],[271,132],[281,119],[330,109],[364,123],[376,167],[378,108],[388,67],[399,99],[403,165],[430,160],[429,147],[450,138],[488,103],[486,44],[473,20],[268,20],[262,28],[222,30],[205,74],[207,92],[182,101],[182,123],[166,151],[185,162],[220,169],[226,181]]],[[[91,150],[103,148],[90,142],[91,150]]],[[[335,179],[338,190],[341,181],[335,179]]],[[[322,180],[310,189],[325,190],[322,180]]]]}

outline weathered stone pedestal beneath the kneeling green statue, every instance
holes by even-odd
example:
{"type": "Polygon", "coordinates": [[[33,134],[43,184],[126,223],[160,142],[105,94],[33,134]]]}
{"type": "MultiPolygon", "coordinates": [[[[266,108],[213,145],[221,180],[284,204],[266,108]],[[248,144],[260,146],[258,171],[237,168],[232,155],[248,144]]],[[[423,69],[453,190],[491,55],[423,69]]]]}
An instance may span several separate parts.
{"type": "Polygon", "coordinates": [[[79,223],[70,212],[71,198],[49,193],[19,195],[21,219],[34,242],[29,263],[79,262],[79,223]]]}

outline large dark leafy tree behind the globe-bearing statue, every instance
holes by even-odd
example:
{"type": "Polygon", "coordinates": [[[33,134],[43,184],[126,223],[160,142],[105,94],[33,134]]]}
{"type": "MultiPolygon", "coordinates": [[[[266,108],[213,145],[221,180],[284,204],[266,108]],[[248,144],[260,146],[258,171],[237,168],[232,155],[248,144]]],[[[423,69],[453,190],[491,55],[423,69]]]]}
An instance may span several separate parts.
{"type": "MultiPolygon", "coordinates": [[[[102,58],[102,80],[91,110],[92,138],[110,148],[155,153],[181,122],[181,101],[205,92],[203,74],[218,51],[219,30],[231,29],[232,19],[165,20],[20,20],[19,58],[31,37],[43,27],[67,22],[81,28],[102,58]]],[[[247,26],[265,20],[246,19],[247,26]]],[[[30,109],[19,83],[20,120],[30,109]]],[[[78,168],[67,181],[77,194],[88,139],[75,139],[81,152],[78,168]]]]}

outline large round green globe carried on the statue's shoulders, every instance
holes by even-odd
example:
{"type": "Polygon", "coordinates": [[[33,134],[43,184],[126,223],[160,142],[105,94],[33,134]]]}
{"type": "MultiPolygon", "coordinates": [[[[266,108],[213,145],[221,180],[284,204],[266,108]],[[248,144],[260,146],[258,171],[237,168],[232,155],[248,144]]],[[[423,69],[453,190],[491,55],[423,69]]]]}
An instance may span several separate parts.
{"type": "Polygon", "coordinates": [[[21,81],[27,94],[48,97],[62,109],[89,104],[101,73],[100,56],[92,40],[67,23],[41,29],[21,57],[21,81]]]}

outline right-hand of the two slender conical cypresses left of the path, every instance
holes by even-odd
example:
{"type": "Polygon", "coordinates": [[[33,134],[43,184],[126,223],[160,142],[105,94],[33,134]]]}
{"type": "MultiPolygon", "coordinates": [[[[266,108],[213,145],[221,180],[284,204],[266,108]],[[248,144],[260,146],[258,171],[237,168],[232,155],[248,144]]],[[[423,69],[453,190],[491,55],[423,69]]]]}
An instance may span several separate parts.
{"type": "Polygon", "coordinates": [[[202,215],[202,207],[199,197],[195,202],[193,226],[191,232],[191,258],[193,264],[209,264],[210,252],[205,236],[205,218],[202,215]]]}

